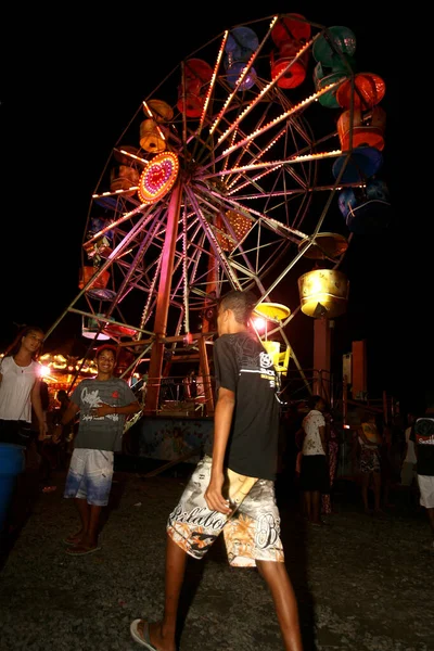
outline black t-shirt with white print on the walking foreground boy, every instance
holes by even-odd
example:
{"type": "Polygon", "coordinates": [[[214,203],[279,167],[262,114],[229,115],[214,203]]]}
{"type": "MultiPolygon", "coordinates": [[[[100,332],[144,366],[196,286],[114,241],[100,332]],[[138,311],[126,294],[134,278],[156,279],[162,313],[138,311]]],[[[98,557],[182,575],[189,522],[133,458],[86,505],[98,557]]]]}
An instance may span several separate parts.
{"type": "Polygon", "coordinates": [[[214,343],[214,366],[217,397],[220,386],[235,394],[226,464],[251,477],[275,480],[280,414],[270,356],[251,332],[224,334],[214,343]]]}

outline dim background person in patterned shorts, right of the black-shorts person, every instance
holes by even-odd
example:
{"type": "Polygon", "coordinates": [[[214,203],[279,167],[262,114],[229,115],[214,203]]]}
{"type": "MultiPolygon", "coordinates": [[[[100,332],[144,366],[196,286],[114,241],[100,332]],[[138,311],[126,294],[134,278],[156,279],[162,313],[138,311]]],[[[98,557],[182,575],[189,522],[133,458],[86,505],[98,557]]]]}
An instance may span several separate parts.
{"type": "Polygon", "coordinates": [[[369,482],[373,484],[374,512],[381,513],[381,463],[382,438],[376,426],[375,414],[367,411],[358,430],[360,445],[361,498],[365,513],[371,513],[368,501],[369,482]]]}

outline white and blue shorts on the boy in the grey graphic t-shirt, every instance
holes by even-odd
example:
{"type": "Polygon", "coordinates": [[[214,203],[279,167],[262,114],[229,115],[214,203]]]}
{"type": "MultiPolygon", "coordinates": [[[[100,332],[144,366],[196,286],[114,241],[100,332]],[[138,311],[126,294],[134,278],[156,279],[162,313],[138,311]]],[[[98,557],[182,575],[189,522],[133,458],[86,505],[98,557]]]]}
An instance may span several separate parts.
{"type": "Polygon", "coordinates": [[[105,507],[113,481],[113,452],[76,448],[71,457],[63,497],[86,499],[88,505],[105,507]]]}

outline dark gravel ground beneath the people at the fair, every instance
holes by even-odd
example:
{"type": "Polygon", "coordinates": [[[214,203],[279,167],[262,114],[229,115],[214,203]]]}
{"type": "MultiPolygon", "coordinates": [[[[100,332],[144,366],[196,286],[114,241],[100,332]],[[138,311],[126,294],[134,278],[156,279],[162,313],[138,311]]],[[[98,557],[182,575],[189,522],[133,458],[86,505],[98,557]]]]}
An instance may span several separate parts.
{"type": "MultiPolygon", "coordinates": [[[[133,651],[129,624],[163,604],[166,519],[192,467],[157,476],[118,470],[100,552],[65,554],[77,526],[71,501],[40,490],[3,554],[2,651],[133,651]]],[[[286,565],[305,651],[432,651],[434,554],[429,526],[407,494],[382,516],[361,512],[357,487],[336,486],[336,513],[311,528],[290,484],[278,484],[286,565]]],[[[182,596],[180,651],[277,651],[283,646],[270,595],[256,570],[229,567],[220,541],[191,561],[182,596]]]]}

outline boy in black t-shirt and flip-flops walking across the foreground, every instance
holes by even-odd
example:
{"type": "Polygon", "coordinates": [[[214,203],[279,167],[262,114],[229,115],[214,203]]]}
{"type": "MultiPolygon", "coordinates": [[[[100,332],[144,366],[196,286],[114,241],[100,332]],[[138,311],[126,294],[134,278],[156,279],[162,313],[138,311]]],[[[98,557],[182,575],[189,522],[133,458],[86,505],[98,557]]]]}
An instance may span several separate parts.
{"type": "Polygon", "coordinates": [[[218,304],[217,403],[212,446],[167,522],[163,618],[135,620],[142,647],[175,651],[187,554],[202,559],[222,533],[232,566],[255,566],[270,588],[284,648],[301,651],[297,604],[286,573],[275,498],[279,405],[272,360],[250,329],[255,297],[231,291],[218,304]]]}

